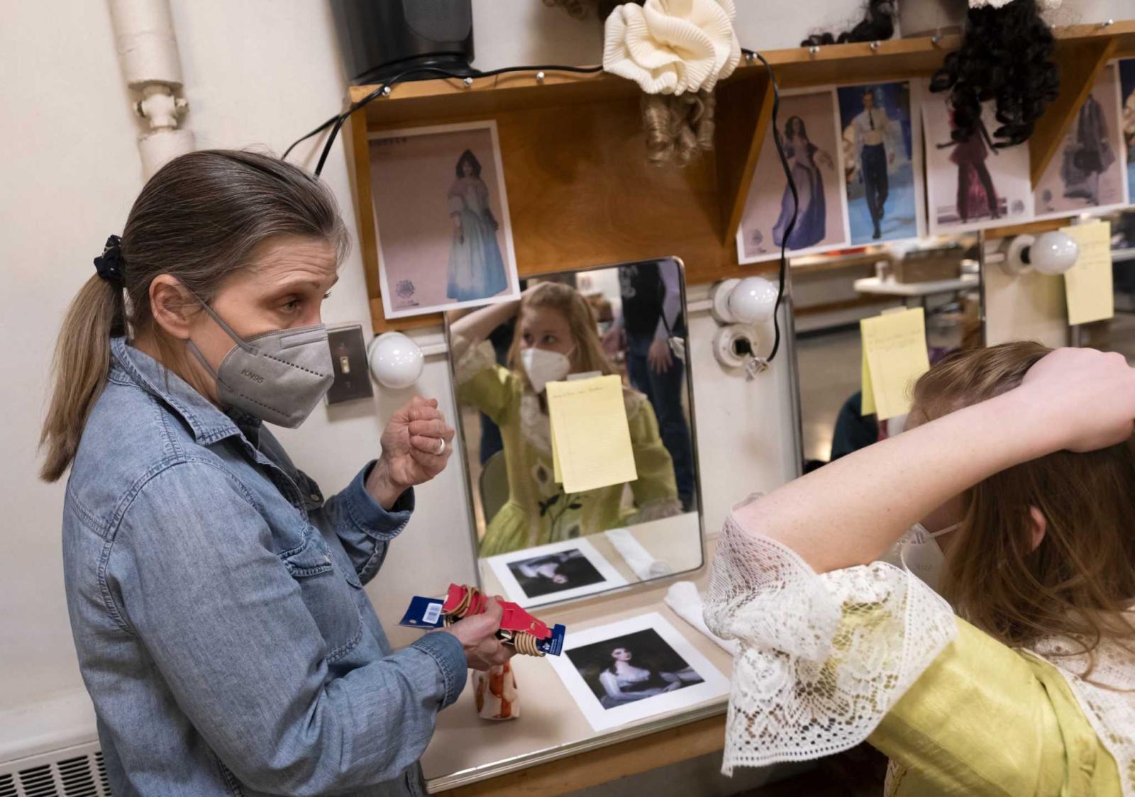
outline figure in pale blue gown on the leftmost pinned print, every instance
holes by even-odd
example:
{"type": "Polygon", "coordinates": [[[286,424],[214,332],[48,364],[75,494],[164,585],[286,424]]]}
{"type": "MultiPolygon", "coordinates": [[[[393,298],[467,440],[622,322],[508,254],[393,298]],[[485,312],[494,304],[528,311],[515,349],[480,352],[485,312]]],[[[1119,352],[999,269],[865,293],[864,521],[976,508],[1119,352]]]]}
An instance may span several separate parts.
{"type": "Polygon", "coordinates": [[[487,299],[508,287],[496,230],[501,224],[489,207],[481,163],[470,150],[457,159],[457,178],[449,186],[449,282],[446,295],[459,302],[487,299]]]}

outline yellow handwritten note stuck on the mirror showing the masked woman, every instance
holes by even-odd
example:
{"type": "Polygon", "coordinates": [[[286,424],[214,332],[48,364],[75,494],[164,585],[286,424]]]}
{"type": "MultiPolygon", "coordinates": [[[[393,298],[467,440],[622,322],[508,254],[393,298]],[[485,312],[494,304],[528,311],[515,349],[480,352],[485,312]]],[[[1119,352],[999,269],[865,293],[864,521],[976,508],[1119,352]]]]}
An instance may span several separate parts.
{"type": "Polygon", "coordinates": [[[566,493],[638,479],[631,431],[617,376],[550,381],[553,456],[566,493]]]}

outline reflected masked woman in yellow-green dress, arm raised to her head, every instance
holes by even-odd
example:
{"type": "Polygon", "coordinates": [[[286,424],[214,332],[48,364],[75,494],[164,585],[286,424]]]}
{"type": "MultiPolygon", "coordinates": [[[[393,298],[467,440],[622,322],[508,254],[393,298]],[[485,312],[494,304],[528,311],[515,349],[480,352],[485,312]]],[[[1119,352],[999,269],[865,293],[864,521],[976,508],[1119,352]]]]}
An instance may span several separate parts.
{"type": "Polygon", "coordinates": [[[454,321],[452,334],[457,397],[499,426],[504,441],[508,501],[488,520],[482,556],[681,512],[674,463],[654,410],[630,387],[623,388],[623,400],[639,477],[630,484],[634,507],[624,507],[623,485],[564,494],[554,481],[545,386],[570,374],[616,374],[603,353],[591,309],[573,287],[540,283],[520,302],[493,304],[454,321]],[[507,366],[498,366],[480,344],[513,316],[518,324],[507,366]]]}

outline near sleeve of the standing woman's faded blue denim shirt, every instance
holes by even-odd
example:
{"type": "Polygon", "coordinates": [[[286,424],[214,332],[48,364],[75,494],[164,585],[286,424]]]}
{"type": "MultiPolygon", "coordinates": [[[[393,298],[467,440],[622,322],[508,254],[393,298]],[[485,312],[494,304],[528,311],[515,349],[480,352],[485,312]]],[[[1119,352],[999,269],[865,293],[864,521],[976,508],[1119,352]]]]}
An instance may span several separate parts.
{"type": "MultiPolygon", "coordinates": [[[[378,530],[386,521],[376,523],[373,507],[345,493],[344,518],[355,512],[376,537],[393,531],[378,530]]],[[[252,788],[317,795],[395,779],[461,693],[461,644],[430,634],[329,673],[335,653],[321,628],[346,626],[350,612],[336,599],[311,607],[306,590],[353,587],[319,567],[293,573],[288,553],[274,549],[239,483],[208,462],[174,464],[124,510],[106,564],[108,602],[145,645],[178,708],[252,788]],[[328,580],[301,586],[304,579],[328,580]],[[325,610],[317,622],[312,612],[325,610]]]]}

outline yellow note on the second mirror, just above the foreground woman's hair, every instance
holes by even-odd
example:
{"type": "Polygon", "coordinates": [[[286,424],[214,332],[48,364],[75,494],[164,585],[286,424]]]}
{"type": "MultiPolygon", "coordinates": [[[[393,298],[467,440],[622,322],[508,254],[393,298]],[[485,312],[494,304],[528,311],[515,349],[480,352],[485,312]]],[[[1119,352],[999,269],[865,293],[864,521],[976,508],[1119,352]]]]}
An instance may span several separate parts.
{"type": "Polygon", "coordinates": [[[888,312],[859,321],[863,337],[864,412],[873,398],[878,420],[910,410],[910,387],[930,370],[926,318],[922,308],[888,312]]]}

